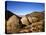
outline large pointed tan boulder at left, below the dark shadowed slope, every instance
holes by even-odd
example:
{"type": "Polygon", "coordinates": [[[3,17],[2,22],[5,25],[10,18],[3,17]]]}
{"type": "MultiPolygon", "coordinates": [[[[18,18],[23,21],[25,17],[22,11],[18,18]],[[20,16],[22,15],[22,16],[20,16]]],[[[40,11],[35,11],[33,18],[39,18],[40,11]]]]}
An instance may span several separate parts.
{"type": "Polygon", "coordinates": [[[16,29],[16,26],[19,25],[19,18],[17,18],[15,15],[11,16],[9,20],[7,21],[7,32],[14,32],[16,29]]]}

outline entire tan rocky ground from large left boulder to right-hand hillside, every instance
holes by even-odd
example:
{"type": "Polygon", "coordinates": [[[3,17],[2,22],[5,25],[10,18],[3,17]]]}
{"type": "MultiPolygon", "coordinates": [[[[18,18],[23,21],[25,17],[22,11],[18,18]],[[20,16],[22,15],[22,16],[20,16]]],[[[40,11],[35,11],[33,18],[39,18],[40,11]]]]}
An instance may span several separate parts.
{"type": "Polygon", "coordinates": [[[23,17],[14,14],[7,20],[7,33],[43,32],[44,16],[44,12],[33,12],[23,17]]]}

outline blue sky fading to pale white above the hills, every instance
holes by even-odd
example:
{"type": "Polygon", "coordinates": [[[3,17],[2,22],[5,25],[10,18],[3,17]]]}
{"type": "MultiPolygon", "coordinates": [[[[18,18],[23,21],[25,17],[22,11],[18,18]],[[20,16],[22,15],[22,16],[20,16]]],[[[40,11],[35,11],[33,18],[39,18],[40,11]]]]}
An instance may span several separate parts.
{"type": "Polygon", "coordinates": [[[34,11],[44,11],[44,3],[8,1],[7,10],[17,15],[26,15],[34,11]]]}

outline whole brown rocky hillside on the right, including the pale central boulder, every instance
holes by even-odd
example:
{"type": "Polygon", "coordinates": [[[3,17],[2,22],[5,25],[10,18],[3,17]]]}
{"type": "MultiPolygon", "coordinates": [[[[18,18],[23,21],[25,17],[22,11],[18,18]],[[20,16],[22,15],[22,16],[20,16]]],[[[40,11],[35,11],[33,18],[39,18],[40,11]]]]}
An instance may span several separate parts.
{"type": "Polygon", "coordinates": [[[25,28],[30,28],[32,32],[43,32],[44,30],[44,13],[43,12],[33,12],[22,17],[22,24],[27,25],[25,28]]]}

